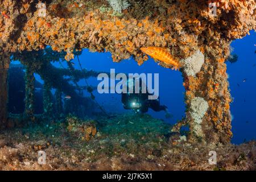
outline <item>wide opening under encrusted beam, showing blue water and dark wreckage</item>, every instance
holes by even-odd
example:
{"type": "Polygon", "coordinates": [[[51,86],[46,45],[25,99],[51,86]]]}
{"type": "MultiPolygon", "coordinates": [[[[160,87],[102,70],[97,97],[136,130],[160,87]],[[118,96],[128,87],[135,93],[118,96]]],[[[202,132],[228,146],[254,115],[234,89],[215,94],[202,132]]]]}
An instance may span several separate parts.
{"type": "MultiPolygon", "coordinates": [[[[175,124],[184,117],[185,104],[183,77],[180,72],[160,67],[153,59],[141,66],[130,57],[114,63],[110,52],[89,52],[83,49],[74,59],[64,60],[65,53],[47,47],[40,51],[23,51],[11,56],[9,68],[9,113],[73,114],[86,115],[107,113],[134,113],[123,109],[121,94],[97,92],[97,76],[115,69],[115,73],[158,73],[160,104],[166,105],[171,113],[149,109],[148,114],[164,122],[175,124]],[[167,79],[168,78],[168,79],[167,79]],[[169,84],[171,82],[171,84],[169,84]],[[90,92],[88,92],[88,89],[90,92]],[[92,98],[93,97],[93,98],[92,98]],[[101,108],[102,107],[102,108],[101,108]]],[[[117,82],[117,81],[115,81],[117,82]]]]}

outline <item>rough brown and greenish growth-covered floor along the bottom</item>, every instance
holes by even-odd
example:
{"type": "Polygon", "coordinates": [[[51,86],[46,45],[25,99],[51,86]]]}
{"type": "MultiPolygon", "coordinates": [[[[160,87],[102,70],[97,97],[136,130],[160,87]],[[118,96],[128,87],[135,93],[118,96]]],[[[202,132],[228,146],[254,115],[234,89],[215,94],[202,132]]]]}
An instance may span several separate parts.
{"type": "Polygon", "coordinates": [[[255,141],[203,146],[170,137],[169,130],[163,121],[135,114],[8,129],[0,133],[0,170],[256,170],[255,141]],[[208,162],[213,150],[217,165],[208,162]],[[46,164],[38,163],[39,151],[46,164]]]}

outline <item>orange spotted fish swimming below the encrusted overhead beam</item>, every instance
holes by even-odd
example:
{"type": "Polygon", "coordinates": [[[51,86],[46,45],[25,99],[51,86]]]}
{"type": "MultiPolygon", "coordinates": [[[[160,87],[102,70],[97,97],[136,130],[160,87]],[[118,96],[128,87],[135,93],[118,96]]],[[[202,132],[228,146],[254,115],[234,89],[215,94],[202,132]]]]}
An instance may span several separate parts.
{"type": "Polygon", "coordinates": [[[151,56],[152,58],[163,61],[167,65],[171,65],[172,69],[179,70],[182,66],[178,60],[174,58],[166,49],[161,47],[142,47],[141,51],[151,56]]]}

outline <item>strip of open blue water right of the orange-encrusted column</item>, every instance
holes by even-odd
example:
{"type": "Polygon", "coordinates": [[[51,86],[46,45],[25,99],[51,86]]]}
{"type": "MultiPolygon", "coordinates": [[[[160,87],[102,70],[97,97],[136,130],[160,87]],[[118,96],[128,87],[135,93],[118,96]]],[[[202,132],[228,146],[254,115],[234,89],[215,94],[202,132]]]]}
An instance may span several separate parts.
{"type": "Polygon", "coordinates": [[[228,63],[229,83],[232,97],[233,143],[256,138],[256,33],[232,42],[234,53],[238,55],[236,63],[228,63]],[[243,80],[246,79],[245,82],[243,80]],[[239,84],[240,86],[238,86],[239,84]]]}

